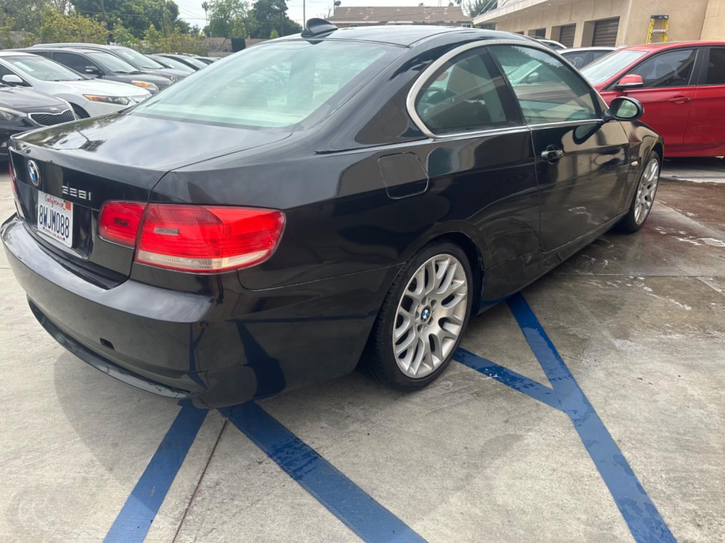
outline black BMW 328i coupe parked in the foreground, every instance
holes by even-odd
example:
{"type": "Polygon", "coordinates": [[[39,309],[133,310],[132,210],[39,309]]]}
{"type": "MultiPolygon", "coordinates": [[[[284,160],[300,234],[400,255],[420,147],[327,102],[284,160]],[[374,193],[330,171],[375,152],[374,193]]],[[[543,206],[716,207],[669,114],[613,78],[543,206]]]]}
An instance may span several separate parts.
{"type": "Polygon", "coordinates": [[[469,316],[642,226],[663,151],[640,114],[518,35],[311,20],[14,136],[0,237],[43,327],[144,390],[231,405],[359,361],[415,390],[469,316]]]}

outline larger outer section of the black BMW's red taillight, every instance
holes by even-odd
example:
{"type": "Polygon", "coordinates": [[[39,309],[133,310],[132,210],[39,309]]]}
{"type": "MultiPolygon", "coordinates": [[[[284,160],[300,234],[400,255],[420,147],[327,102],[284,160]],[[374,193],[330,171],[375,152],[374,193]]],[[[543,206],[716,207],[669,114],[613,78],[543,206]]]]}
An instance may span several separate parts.
{"type": "Polygon", "coordinates": [[[282,235],[284,214],[271,209],[150,203],[136,261],[214,273],[266,260],[282,235]]]}

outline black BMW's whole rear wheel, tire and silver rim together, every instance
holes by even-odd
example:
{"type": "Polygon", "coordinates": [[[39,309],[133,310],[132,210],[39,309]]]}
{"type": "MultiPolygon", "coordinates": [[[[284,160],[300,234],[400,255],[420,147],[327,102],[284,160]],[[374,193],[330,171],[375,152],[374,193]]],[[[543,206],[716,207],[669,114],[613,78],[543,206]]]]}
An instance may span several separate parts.
{"type": "Polygon", "coordinates": [[[450,242],[431,243],[390,287],[361,368],[399,390],[433,382],[460,345],[470,311],[471,265],[450,242]]]}

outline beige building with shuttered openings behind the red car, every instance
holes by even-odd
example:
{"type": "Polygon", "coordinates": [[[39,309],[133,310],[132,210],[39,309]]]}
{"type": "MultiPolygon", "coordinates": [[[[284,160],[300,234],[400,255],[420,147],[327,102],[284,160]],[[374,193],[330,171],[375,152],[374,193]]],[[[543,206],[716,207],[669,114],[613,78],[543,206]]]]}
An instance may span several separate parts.
{"type": "MultiPolygon", "coordinates": [[[[567,47],[619,46],[645,43],[653,15],[668,15],[668,41],[725,41],[725,0],[499,0],[473,22],[567,47]]],[[[651,41],[661,38],[654,33],[651,41]]]]}

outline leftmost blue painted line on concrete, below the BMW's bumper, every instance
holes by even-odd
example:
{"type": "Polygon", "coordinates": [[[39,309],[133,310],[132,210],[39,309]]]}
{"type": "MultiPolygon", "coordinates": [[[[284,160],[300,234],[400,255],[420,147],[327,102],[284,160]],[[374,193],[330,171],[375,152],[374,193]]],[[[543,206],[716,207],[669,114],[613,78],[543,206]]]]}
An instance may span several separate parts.
{"type": "Polygon", "coordinates": [[[186,453],[202,427],[207,410],[184,400],[173,424],[161,440],[141,479],[109,529],[104,543],[141,543],[181,468],[186,453]]]}

